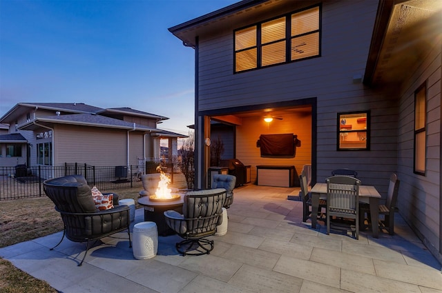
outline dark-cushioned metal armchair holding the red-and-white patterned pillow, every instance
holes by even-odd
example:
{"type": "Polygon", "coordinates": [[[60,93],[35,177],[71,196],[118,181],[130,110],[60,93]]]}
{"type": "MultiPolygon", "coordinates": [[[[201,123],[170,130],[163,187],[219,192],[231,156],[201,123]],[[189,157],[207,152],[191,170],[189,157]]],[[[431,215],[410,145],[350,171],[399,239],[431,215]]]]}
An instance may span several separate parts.
{"type": "Polygon", "coordinates": [[[92,198],[90,187],[80,175],[70,175],[44,181],[44,192],[55,203],[55,210],[61,214],[64,223],[63,236],[74,242],[86,242],[83,261],[92,241],[127,230],[129,247],[132,247],[130,208],[128,205],[118,205],[118,196],[113,194],[114,208],[97,210],[92,198]]]}

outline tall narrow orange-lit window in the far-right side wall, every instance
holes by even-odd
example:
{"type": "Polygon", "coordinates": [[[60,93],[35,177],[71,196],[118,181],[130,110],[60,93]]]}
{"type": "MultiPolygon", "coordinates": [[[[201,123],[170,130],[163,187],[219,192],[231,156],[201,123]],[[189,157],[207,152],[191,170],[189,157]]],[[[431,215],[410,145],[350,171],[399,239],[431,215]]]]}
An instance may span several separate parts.
{"type": "Polygon", "coordinates": [[[414,173],[425,175],[426,149],[426,89],[425,84],[414,92],[414,173]]]}

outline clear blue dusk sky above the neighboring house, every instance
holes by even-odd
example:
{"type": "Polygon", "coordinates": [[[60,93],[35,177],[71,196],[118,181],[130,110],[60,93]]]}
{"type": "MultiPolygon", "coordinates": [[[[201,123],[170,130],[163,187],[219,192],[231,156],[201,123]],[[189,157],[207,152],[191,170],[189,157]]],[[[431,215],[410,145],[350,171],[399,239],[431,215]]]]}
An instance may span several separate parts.
{"type": "Polygon", "coordinates": [[[130,107],[193,124],[194,50],[167,30],[239,0],[0,0],[0,117],[20,102],[130,107]]]}

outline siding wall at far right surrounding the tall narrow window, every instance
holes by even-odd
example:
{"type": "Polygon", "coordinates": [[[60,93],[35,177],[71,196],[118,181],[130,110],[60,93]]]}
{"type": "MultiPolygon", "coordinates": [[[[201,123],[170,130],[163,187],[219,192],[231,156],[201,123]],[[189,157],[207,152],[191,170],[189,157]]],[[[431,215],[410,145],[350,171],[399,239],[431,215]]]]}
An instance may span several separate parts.
{"type": "Polygon", "coordinates": [[[441,254],[441,39],[403,83],[398,123],[399,212],[442,262],[441,254]],[[414,174],[414,92],[427,85],[427,148],[425,176],[414,174]]]}

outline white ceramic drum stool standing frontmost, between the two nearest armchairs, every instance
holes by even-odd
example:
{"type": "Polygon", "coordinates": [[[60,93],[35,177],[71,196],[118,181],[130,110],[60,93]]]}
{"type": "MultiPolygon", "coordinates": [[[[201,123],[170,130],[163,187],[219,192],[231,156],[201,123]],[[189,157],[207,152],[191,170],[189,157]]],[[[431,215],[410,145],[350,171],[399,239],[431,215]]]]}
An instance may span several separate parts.
{"type": "Polygon", "coordinates": [[[151,259],[158,251],[158,230],[155,222],[141,222],[133,226],[132,250],[135,259],[151,259]]]}

